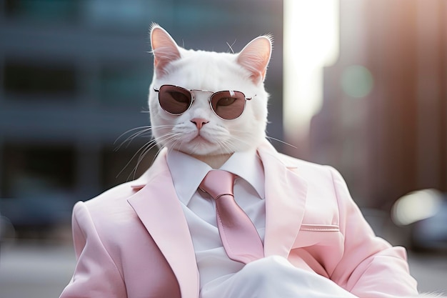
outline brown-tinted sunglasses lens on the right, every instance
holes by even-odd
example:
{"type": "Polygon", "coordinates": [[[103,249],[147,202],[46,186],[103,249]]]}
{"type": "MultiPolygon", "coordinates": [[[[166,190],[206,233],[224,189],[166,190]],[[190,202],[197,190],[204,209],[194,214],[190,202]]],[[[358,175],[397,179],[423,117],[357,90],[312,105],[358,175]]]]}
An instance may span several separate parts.
{"type": "Polygon", "coordinates": [[[211,97],[211,106],[222,119],[233,120],[245,108],[245,95],[239,91],[219,91],[211,97]]]}

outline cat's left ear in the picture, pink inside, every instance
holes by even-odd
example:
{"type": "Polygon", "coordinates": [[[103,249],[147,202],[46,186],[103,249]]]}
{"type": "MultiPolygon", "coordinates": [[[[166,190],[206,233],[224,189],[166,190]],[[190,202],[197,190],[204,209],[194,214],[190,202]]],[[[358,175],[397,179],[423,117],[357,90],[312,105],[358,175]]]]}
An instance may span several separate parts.
{"type": "Polygon", "coordinates": [[[169,33],[157,24],[151,26],[151,46],[154,54],[154,68],[157,76],[166,74],[166,66],[180,59],[179,46],[169,33]]]}

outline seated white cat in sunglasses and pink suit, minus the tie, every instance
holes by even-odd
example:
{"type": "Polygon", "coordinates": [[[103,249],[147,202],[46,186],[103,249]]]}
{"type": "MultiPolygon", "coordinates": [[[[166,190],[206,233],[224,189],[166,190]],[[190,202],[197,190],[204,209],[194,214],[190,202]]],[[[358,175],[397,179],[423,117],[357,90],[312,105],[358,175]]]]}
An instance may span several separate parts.
{"type": "Polygon", "coordinates": [[[154,25],[151,45],[152,128],[128,140],[152,129],[142,150],[163,149],[139,179],[76,203],[77,265],[61,298],[417,295],[404,249],[373,234],[341,175],[266,141],[269,36],[217,54],[182,49],[154,25]],[[250,262],[224,248],[221,214],[200,189],[211,169],[237,176],[238,214],[263,241],[250,262]]]}

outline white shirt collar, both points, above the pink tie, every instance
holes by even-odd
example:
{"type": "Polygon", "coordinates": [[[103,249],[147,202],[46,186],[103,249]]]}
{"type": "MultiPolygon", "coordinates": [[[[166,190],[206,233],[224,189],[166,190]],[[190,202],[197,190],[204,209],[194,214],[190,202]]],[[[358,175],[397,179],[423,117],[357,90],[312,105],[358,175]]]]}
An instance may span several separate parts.
{"type": "MultiPolygon", "coordinates": [[[[176,150],[168,152],[166,161],[177,196],[181,202],[188,205],[201,181],[211,171],[211,167],[199,159],[176,150]]],[[[256,149],[233,153],[220,169],[238,175],[251,184],[261,199],[265,197],[263,167],[256,149]]]]}

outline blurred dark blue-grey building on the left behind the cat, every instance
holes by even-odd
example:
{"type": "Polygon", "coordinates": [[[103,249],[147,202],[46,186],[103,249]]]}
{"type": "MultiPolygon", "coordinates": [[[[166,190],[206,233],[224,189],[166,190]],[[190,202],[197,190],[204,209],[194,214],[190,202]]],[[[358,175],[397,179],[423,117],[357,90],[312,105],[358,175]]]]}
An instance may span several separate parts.
{"type": "Polygon", "coordinates": [[[152,22],[188,49],[240,51],[273,34],[268,130],[281,139],[281,4],[0,0],[0,212],[23,226],[67,221],[77,200],[134,177],[150,136],[114,149],[149,125],[152,22]]]}

